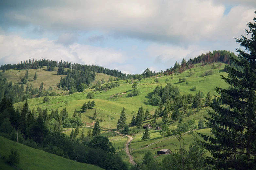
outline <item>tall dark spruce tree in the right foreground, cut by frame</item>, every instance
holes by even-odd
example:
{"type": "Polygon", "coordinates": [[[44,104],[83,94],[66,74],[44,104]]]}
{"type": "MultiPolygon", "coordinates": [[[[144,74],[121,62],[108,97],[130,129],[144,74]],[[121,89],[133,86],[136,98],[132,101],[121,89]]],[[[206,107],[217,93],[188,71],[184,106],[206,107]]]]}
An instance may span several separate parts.
{"type": "MultiPolygon", "coordinates": [[[[255,11],[256,14],[256,11],[255,11]]],[[[256,22],[256,17],[254,18],[256,22]]],[[[237,49],[238,58],[230,59],[243,71],[227,67],[228,77],[222,79],[230,89],[216,87],[219,99],[231,109],[211,104],[214,110],[208,110],[206,125],[214,135],[199,135],[205,140],[203,146],[211,153],[217,169],[255,169],[256,162],[256,23],[249,22],[247,35],[236,41],[246,51],[237,49]]]]}

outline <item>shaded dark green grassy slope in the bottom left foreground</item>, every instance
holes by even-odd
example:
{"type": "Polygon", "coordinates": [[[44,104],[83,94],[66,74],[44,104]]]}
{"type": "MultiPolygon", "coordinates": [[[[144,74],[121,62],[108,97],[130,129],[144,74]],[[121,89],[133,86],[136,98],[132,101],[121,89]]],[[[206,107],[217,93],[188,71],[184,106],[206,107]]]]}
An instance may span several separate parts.
{"type": "Polygon", "coordinates": [[[9,155],[11,148],[18,150],[20,154],[19,169],[102,169],[100,167],[75,162],[51,153],[44,152],[42,150],[30,148],[26,145],[16,143],[0,136],[0,154],[9,155]]]}

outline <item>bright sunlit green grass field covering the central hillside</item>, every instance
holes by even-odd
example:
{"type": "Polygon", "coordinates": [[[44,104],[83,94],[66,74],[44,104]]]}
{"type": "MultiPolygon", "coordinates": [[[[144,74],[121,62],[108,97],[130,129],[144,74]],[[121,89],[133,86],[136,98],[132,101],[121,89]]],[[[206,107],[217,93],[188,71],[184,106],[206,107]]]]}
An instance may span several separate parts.
{"type": "MultiPolygon", "coordinates": [[[[221,79],[221,75],[223,76],[227,76],[228,73],[224,72],[224,66],[225,64],[223,63],[215,63],[215,65],[218,67],[217,69],[213,69],[213,74],[209,75],[209,76],[205,76],[205,77],[201,77],[201,74],[204,73],[205,71],[211,69],[211,64],[209,65],[205,65],[205,66],[201,66],[201,64],[196,64],[194,68],[192,68],[192,71],[195,72],[194,75],[189,77],[189,70],[184,71],[181,74],[172,74],[172,75],[168,75],[168,76],[162,76],[162,77],[158,77],[159,82],[156,83],[154,78],[145,78],[141,81],[136,80],[134,83],[138,84],[138,88],[140,89],[140,93],[138,96],[134,96],[134,97],[129,97],[129,93],[133,91],[133,88],[131,87],[132,84],[130,83],[130,81],[126,82],[126,81],[119,81],[120,86],[110,89],[107,92],[95,92],[94,99],[95,100],[95,104],[96,104],[96,112],[98,113],[98,117],[96,120],[99,120],[100,117],[103,118],[103,121],[100,122],[100,126],[102,128],[106,128],[106,129],[115,129],[116,128],[116,123],[119,119],[119,116],[121,114],[121,110],[123,107],[125,107],[126,109],[126,116],[127,116],[127,123],[131,122],[132,116],[133,114],[132,111],[135,111],[137,113],[138,109],[140,106],[143,106],[144,108],[144,112],[146,111],[146,109],[148,108],[150,110],[150,113],[152,113],[152,115],[155,112],[155,109],[157,108],[157,106],[152,106],[150,104],[150,100],[149,100],[149,96],[152,94],[154,88],[157,85],[162,85],[162,87],[165,87],[165,85],[167,83],[172,83],[174,86],[178,86],[180,89],[180,93],[181,94],[189,94],[192,93],[193,95],[195,95],[198,91],[202,91],[205,94],[207,94],[208,91],[211,92],[211,95],[214,97],[214,95],[218,95],[215,92],[215,86],[216,87],[222,87],[222,88],[228,88],[228,84],[225,83],[222,79],[221,79]],[[186,78],[188,85],[186,85],[185,82],[179,82],[179,78],[186,78]],[[192,87],[196,85],[196,91],[191,91],[192,87]]],[[[47,71],[45,71],[47,72],[47,71]]],[[[98,78],[100,77],[100,75],[98,75],[98,73],[96,73],[98,78]]],[[[97,78],[96,76],[96,78],[97,78]]],[[[105,79],[105,78],[104,78],[105,79]]],[[[106,79],[105,79],[106,80],[106,79]]],[[[29,99],[28,100],[28,104],[29,104],[29,108],[33,109],[33,108],[37,108],[40,107],[42,109],[47,109],[48,113],[50,113],[51,109],[57,109],[59,110],[59,112],[66,107],[67,111],[68,111],[68,115],[72,116],[74,110],[76,109],[77,112],[81,112],[81,107],[83,105],[83,103],[87,103],[89,100],[86,99],[87,93],[92,91],[93,89],[87,89],[85,92],[80,92],[80,93],[75,93],[72,95],[68,95],[68,96],[50,96],[50,101],[48,103],[43,103],[43,97],[41,98],[34,98],[34,99],[29,99]],[[68,104],[65,104],[65,101],[68,101],[68,104]]],[[[14,104],[15,107],[18,108],[22,108],[24,102],[20,102],[20,103],[16,103],[14,104]]],[[[190,105],[189,105],[190,107],[190,105]]],[[[196,124],[198,124],[198,121],[200,119],[204,119],[205,116],[207,116],[207,112],[206,110],[208,110],[209,107],[205,107],[203,109],[201,109],[198,113],[194,111],[194,114],[183,118],[183,122],[186,122],[188,120],[191,119],[195,119],[196,120],[196,124]]],[[[92,115],[94,114],[95,111],[95,107],[94,109],[88,109],[86,113],[82,113],[82,121],[84,123],[92,123],[95,120],[92,119],[92,115]]],[[[136,114],[135,113],[135,114],[136,114]]],[[[171,115],[171,113],[170,113],[171,115]]],[[[143,122],[143,125],[150,123],[150,120],[146,120],[143,122]]],[[[175,128],[178,124],[177,122],[170,122],[170,128],[175,128]]],[[[159,118],[155,124],[153,124],[153,127],[155,128],[156,126],[161,126],[162,125],[162,118],[159,118]]],[[[130,132],[133,130],[133,128],[135,128],[136,134],[135,134],[135,139],[131,142],[131,155],[134,157],[134,159],[138,162],[139,161],[139,157],[141,156],[141,159],[145,153],[146,150],[150,150],[152,151],[152,153],[155,153],[155,150],[152,149],[155,146],[150,146],[144,149],[140,149],[143,148],[151,143],[155,143],[158,142],[157,145],[159,150],[161,148],[168,148],[171,149],[172,151],[178,148],[177,145],[177,139],[175,138],[170,138],[167,140],[163,140],[163,137],[159,135],[159,132],[156,130],[151,130],[151,139],[147,140],[147,141],[142,141],[141,140],[141,135],[142,135],[142,131],[143,129],[137,129],[136,127],[130,127],[130,132]],[[162,141],[163,140],[163,141],[162,141]]],[[[87,128],[86,128],[87,129],[87,128]]],[[[81,132],[81,129],[79,129],[81,132]]],[[[201,131],[202,133],[206,133],[209,134],[210,130],[209,129],[203,129],[203,130],[198,130],[201,131]]],[[[64,132],[65,134],[69,135],[69,132],[64,132]]],[[[110,132],[108,133],[103,133],[104,135],[107,135],[107,137],[111,136],[110,132]],[[109,133],[109,135],[108,135],[109,133]]],[[[86,133],[87,134],[87,133],[86,133]]],[[[102,135],[103,135],[102,134],[102,135]]],[[[111,140],[111,137],[109,137],[109,139],[111,140]]],[[[185,135],[184,136],[184,141],[187,144],[187,146],[189,146],[189,144],[191,143],[191,136],[190,135],[185,135]]],[[[120,144],[124,144],[125,143],[125,139],[122,138],[120,139],[120,141],[118,141],[120,144]]],[[[111,141],[113,142],[113,141],[111,141]]],[[[114,141],[117,142],[117,141],[114,141]]],[[[120,148],[119,148],[120,150],[120,148]]],[[[121,151],[121,154],[123,154],[122,158],[124,158],[124,161],[128,162],[128,158],[125,158],[125,152],[121,151]]],[[[162,160],[164,156],[160,156],[160,157],[156,157],[157,160],[162,160]]]]}

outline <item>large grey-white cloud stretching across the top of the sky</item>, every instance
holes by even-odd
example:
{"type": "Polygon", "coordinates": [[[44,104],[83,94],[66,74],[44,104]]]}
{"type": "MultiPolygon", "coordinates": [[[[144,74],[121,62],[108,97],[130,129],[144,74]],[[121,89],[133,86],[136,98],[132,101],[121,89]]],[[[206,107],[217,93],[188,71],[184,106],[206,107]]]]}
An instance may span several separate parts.
{"type": "Polygon", "coordinates": [[[224,15],[225,5],[219,0],[65,0],[57,5],[46,2],[3,12],[6,24],[40,25],[58,31],[100,30],[113,36],[186,44],[241,34],[240,28],[246,27],[256,9],[252,0],[241,3],[242,6],[234,7],[228,16],[224,15]]]}

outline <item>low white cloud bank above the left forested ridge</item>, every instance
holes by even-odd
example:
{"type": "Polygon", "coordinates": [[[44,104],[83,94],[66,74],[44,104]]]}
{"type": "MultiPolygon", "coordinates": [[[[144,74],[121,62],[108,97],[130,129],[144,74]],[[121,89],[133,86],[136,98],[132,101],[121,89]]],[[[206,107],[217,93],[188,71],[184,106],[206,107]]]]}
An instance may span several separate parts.
{"type": "Polygon", "coordinates": [[[93,64],[133,72],[134,66],[122,66],[127,59],[122,51],[78,43],[64,46],[57,42],[46,38],[24,39],[17,35],[0,35],[0,64],[18,64],[34,58],[93,64]]]}

